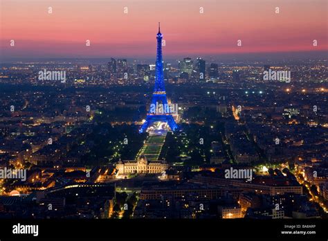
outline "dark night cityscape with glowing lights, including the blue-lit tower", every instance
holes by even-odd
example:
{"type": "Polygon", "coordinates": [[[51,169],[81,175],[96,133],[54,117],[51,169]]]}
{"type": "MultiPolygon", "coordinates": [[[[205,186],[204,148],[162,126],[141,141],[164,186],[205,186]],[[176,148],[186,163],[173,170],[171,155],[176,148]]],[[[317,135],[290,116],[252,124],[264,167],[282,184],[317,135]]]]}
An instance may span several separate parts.
{"type": "Polygon", "coordinates": [[[3,28],[0,220],[327,219],[327,35],[172,55],[151,26],[145,57],[17,55],[3,28]]]}

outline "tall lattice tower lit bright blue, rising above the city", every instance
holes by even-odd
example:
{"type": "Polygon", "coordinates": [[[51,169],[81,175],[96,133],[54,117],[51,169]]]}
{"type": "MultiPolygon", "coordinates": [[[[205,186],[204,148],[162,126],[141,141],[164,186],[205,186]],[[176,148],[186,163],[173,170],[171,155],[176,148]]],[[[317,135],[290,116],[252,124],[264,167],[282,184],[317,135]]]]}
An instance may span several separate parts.
{"type": "MultiPolygon", "coordinates": [[[[167,106],[167,98],[166,92],[164,87],[164,78],[163,78],[163,57],[162,57],[162,39],[163,35],[161,34],[161,26],[158,23],[158,33],[156,35],[157,39],[157,55],[156,55],[156,76],[155,76],[155,87],[152,96],[152,105],[151,106],[158,106],[159,105],[166,105],[167,106]]],[[[151,108],[152,109],[152,108],[151,108]]],[[[178,130],[178,125],[176,125],[174,118],[172,116],[172,112],[170,108],[164,108],[165,111],[163,113],[154,113],[149,109],[147,113],[147,118],[145,123],[140,127],[139,132],[143,133],[147,130],[149,125],[152,123],[161,121],[166,122],[172,131],[178,130]]]]}

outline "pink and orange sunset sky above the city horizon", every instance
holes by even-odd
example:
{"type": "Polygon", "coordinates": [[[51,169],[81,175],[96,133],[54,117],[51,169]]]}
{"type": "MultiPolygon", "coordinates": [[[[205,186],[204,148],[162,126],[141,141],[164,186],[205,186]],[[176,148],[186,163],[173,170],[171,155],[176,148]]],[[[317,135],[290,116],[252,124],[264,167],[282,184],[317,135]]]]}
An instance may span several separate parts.
{"type": "Polygon", "coordinates": [[[0,4],[4,58],[154,57],[158,21],[165,56],[328,50],[326,0],[0,0],[0,4]],[[91,46],[86,46],[86,39],[91,46]],[[313,39],[318,46],[313,46],[313,39]]]}

